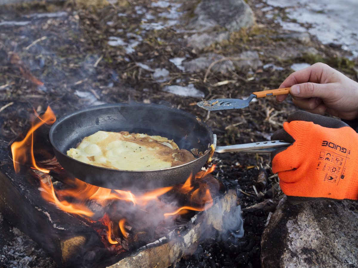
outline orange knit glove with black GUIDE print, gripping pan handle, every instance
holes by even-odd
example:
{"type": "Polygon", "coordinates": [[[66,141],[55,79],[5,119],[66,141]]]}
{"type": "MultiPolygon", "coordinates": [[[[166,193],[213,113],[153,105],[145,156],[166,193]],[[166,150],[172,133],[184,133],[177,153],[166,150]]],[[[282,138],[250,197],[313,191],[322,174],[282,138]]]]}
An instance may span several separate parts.
{"type": "Polygon", "coordinates": [[[297,111],[271,140],[293,143],[271,154],[272,172],[292,203],[358,199],[358,134],[347,124],[297,111]]]}

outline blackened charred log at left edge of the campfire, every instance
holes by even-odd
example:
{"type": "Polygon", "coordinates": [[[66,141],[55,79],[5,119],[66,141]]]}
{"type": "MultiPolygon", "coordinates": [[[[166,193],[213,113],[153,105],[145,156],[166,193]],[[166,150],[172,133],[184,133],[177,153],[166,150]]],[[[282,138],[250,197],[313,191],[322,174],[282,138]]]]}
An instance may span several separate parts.
{"type": "Polygon", "coordinates": [[[34,177],[15,174],[7,146],[0,141],[0,211],[6,220],[46,249],[61,267],[90,262],[91,252],[103,254],[103,243],[92,227],[43,200],[34,177]]]}

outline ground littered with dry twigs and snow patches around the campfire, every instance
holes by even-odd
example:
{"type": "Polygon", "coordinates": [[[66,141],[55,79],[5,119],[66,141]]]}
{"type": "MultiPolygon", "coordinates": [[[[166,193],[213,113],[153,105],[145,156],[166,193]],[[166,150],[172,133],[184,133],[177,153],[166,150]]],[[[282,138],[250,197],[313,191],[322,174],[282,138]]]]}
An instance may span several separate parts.
{"type": "MultiPolygon", "coordinates": [[[[277,23],[277,18],[291,21],[284,8],[260,0],[247,1],[248,6],[228,1],[231,8],[216,14],[219,2],[119,0],[97,7],[81,1],[1,7],[0,139],[17,137],[33,110],[43,111],[47,105],[61,116],[91,105],[139,102],[203,118],[219,145],[268,140],[297,110],[290,97],[280,104],[263,98],[242,110],[217,112],[195,104],[202,98],[244,98],[278,88],[293,70],[318,61],[355,78],[358,62],[349,51],[323,45],[306,32],[284,30],[277,23]]],[[[218,165],[214,175],[236,185],[242,195],[245,236],[205,241],[179,267],[260,267],[261,234],[282,197],[269,155],[216,154],[213,162],[218,165]],[[266,184],[257,182],[259,169],[261,175],[266,172],[266,184]]],[[[0,242],[3,252],[12,243],[21,249],[1,253],[3,267],[39,267],[35,260],[45,253],[6,228],[10,233],[0,242]]],[[[42,263],[54,265],[48,259],[42,263]]]]}

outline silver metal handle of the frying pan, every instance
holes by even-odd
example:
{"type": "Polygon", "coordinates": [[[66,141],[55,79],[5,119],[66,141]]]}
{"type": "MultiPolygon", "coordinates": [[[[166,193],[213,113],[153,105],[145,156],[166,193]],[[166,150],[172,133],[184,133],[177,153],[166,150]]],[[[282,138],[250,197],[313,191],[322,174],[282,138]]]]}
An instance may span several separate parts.
{"type": "Polygon", "coordinates": [[[235,144],[228,146],[217,146],[216,153],[242,152],[242,153],[271,153],[275,148],[288,147],[292,143],[284,140],[268,140],[266,142],[254,142],[246,144],[235,144]]]}

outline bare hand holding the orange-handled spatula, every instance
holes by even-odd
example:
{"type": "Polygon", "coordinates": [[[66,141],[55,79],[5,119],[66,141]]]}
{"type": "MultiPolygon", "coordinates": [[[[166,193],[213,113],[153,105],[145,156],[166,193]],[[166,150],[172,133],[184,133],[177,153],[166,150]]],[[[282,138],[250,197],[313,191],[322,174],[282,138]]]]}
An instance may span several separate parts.
{"type": "MultiPolygon", "coordinates": [[[[295,105],[314,114],[327,112],[342,119],[358,118],[358,83],[323,63],[289,75],[280,88],[291,86],[295,105]]],[[[278,95],[281,102],[287,95],[278,95]]]]}

